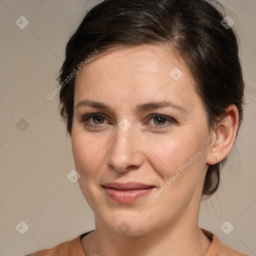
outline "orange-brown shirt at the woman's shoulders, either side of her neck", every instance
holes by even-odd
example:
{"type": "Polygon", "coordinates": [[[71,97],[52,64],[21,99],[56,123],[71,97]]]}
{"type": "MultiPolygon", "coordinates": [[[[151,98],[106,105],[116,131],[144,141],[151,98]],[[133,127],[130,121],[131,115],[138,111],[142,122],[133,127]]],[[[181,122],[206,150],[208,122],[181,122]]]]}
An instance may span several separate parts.
{"type": "MultiPolygon", "coordinates": [[[[205,233],[205,235],[211,240],[211,244],[205,256],[248,256],[223,244],[218,239],[218,237],[210,231],[203,228],[201,229],[205,233]]],[[[81,237],[92,231],[94,230],[88,231],[84,234],[80,234],[76,238],[70,241],[62,242],[51,249],[38,250],[24,256],[85,256],[80,244],[80,239],[81,237]]]]}

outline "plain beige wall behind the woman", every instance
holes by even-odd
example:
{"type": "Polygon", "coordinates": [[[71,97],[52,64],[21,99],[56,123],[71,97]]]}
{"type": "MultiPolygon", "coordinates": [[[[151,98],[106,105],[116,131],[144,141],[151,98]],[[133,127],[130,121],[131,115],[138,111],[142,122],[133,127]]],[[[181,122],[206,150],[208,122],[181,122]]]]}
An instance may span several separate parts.
{"type": "MultiPolygon", "coordinates": [[[[85,13],[85,2],[0,0],[0,255],[49,248],[94,228],[93,212],[78,183],[66,177],[74,163],[58,98],[46,98],[56,85],[65,44],[85,13]],[[24,29],[15,24],[21,15],[29,21],[24,29]],[[21,118],[28,123],[23,131],[16,126],[21,118]],[[15,228],[21,220],[29,226],[24,234],[15,228]]],[[[87,1],[86,8],[98,2],[87,1]]],[[[221,3],[240,39],[247,104],[218,192],[201,203],[199,226],[256,255],[256,1],[221,3]],[[229,234],[220,228],[226,220],[234,226],[229,234]]]]}

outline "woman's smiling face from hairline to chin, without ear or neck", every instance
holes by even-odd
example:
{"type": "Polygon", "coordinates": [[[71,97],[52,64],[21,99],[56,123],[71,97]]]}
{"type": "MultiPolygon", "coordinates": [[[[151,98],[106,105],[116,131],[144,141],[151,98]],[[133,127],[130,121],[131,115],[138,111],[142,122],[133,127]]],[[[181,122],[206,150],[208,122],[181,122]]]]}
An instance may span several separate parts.
{"type": "Polygon", "coordinates": [[[187,69],[163,46],[119,48],[78,72],[71,141],[101,227],[142,235],[197,221],[206,115],[187,69]]]}

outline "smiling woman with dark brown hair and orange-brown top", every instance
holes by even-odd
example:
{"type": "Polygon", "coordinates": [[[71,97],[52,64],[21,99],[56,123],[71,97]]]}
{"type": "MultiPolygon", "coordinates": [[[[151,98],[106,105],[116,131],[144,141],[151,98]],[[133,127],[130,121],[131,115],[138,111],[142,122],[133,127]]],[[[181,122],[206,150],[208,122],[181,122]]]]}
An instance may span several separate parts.
{"type": "Polygon", "coordinates": [[[104,0],[86,14],[58,88],[95,230],[29,255],[245,255],[198,227],[243,116],[230,26],[205,0],[104,0]]]}

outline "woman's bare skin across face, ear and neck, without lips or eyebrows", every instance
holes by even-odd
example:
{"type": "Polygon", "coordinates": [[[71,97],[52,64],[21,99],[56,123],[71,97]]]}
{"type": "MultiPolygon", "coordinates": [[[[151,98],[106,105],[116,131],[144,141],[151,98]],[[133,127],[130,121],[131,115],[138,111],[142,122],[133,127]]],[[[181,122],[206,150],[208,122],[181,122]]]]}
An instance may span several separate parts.
{"type": "Polygon", "coordinates": [[[98,55],[76,75],[72,152],[79,186],[95,213],[95,231],[81,239],[86,256],[205,255],[211,241],[198,227],[203,181],[208,164],[221,161],[231,150],[238,112],[230,105],[225,118],[209,130],[194,88],[185,66],[162,45],[115,49],[98,55]],[[169,75],[173,67],[183,73],[176,81],[169,75]],[[84,99],[107,104],[111,110],[76,107],[84,99]],[[179,104],[186,111],[169,106],[135,110],[137,104],[160,100],[179,104]],[[91,113],[104,118],[80,122],[91,113]],[[126,131],[118,126],[123,118],[131,124],[126,131]],[[163,128],[154,128],[161,124],[163,128]],[[200,156],[158,198],[149,201],[198,151],[200,156]],[[113,181],[155,187],[135,202],[117,203],[101,186],[113,181]],[[130,228],[127,233],[118,228],[123,221],[130,228]]]}

